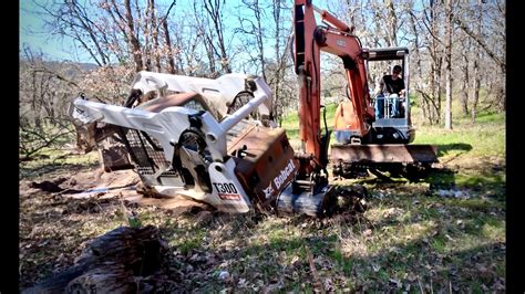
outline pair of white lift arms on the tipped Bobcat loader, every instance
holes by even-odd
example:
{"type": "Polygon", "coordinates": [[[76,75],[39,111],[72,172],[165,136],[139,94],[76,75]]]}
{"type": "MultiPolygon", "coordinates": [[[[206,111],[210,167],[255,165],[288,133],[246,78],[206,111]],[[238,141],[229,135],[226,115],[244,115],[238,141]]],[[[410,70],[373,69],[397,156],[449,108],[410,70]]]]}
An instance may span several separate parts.
{"type": "Polygon", "coordinates": [[[247,84],[253,91],[254,98],[220,122],[217,122],[210,113],[202,113],[185,107],[172,106],[159,113],[153,113],[141,108],[91,102],[83,97],[75,98],[72,103],[73,107],[70,107],[69,112],[73,118],[81,120],[83,124],[104,122],[146,132],[161,143],[168,161],[172,160],[174,145],[178,143],[181,134],[193,126],[204,133],[213,160],[223,162],[226,156],[226,133],[229,129],[257,108],[262,117],[269,117],[271,90],[262,78],[227,74],[217,80],[210,80],[141,72],[132,86],[133,90],[141,90],[144,94],[165,90],[195,92],[203,96],[212,96],[212,101],[222,99],[226,102],[245,92],[247,84]]]}

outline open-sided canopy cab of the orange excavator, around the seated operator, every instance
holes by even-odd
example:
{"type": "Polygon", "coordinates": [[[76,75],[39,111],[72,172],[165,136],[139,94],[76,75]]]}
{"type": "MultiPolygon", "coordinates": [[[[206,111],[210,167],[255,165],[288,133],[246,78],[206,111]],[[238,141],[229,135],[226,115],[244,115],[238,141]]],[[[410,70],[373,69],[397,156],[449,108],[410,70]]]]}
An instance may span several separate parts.
{"type": "Polygon", "coordinates": [[[375,120],[372,123],[371,141],[377,144],[409,144],[415,133],[410,119],[410,73],[408,48],[370,49],[367,61],[368,81],[372,91],[375,120]],[[390,75],[395,65],[401,65],[401,77],[405,93],[402,96],[388,94],[379,90],[379,82],[390,75]],[[375,93],[379,94],[375,95],[375,93]]]}

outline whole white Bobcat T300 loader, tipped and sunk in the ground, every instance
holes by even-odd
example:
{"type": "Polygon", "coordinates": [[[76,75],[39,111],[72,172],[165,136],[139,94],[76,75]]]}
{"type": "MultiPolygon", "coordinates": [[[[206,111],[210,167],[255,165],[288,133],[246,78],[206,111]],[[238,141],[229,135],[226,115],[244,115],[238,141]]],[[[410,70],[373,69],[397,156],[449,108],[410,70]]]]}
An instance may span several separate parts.
{"type": "MultiPolygon", "coordinates": [[[[220,211],[275,210],[298,164],[270,119],[271,92],[260,77],[216,80],[137,74],[122,106],[76,97],[70,115],[84,141],[123,146],[144,186],[220,211]]],[[[125,161],[125,160],[123,160],[125,161]]]]}

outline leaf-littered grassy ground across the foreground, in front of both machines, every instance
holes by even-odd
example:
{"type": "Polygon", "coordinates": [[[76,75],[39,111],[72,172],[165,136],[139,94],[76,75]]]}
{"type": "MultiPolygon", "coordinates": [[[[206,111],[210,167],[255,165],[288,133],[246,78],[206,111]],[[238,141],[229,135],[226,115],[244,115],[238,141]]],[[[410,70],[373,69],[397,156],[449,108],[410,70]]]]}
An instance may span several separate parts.
{"type": "MultiPolygon", "coordinates": [[[[90,180],[95,169],[85,162],[79,160],[75,175],[90,180]]],[[[71,175],[69,167],[39,179],[71,175]]],[[[504,158],[461,155],[442,167],[421,182],[333,182],[367,187],[369,209],[357,220],[176,216],[119,197],[68,199],[22,182],[20,288],[66,269],[89,240],[128,225],[134,211],[169,244],[176,292],[505,292],[504,158]]]]}

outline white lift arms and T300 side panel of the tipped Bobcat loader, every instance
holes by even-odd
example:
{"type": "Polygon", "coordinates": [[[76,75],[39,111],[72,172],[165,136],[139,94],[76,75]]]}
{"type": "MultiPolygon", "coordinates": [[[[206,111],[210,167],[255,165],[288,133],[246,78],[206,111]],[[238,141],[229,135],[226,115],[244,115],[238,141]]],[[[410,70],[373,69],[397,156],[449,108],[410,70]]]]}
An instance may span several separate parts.
{"type": "MultiPolygon", "coordinates": [[[[226,212],[249,211],[250,198],[235,174],[236,161],[227,154],[227,134],[257,109],[262,118],[270,117],[271,90],[266,82],[260,77],[244,74],[226,74],[210,80],[141,72],[132,88],[140,90],[143,94],[148,94],[152,91],[157,91],[161,94],[165,91],[193,92],[210,102],[213,107],[223,107],[218,113],[222,113],[224,117],[219,120],[210,112],[181,106],[168,106],[159,112],[150,112],[141,106],[128,108],[91,102],[83,95],[71,103],[69,113],[82,124],[103,122],[146,133],[159,143],[164,158],[172,166],[174,160],[178,159],[176,158],[176,148],[179,149],[183,146],[184,136],[182,135],[187,132],[197,134],[205,141],[206,150],[209,153],[209,161],[207,161],[208,159],[204,160],[207,161],[205,165],[209,175],[209,183],[214,189],[209,192],[197,191],[191,197],[208,202],[226,212]],[[229,108],[228,104],[235,101],[238,95],[247,93],[251,98],[234,113],[227,114],[225,109],[229,108]],[[215,187],[228,187],[226,189],[229,192],[228,198],[220,197],[225,189],[215,187]]],[[[178,188],[175,187],[175,189],[178,188]]]]}

